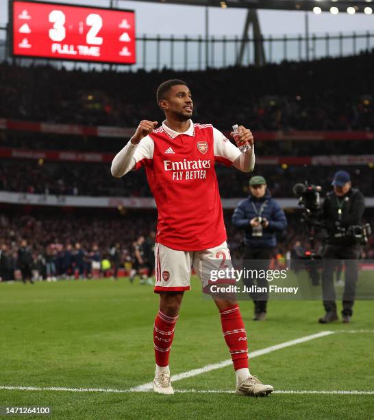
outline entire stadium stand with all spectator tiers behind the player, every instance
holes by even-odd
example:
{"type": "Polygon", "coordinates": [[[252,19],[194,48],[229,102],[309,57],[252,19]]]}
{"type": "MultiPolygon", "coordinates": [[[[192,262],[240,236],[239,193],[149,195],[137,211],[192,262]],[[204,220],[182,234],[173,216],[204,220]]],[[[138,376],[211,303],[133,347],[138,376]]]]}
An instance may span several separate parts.
{"type": "MultiPolygon", "coordinates": [[[[338,169],[350,172],[353,186],[373,196],[373,58],[374,52],[366,51],[308,63],[181,73],[87,73],[1,64],[0,191],[19,196],[16,203],[5,200],[0,205],[0,277],[14,277],[22,239],[31,246],[34,265],[44,278],[46,261],[53,261],[59,277],[72,275],[58,261],[65,253],[74,255],[76,243],[84,251],[86,274],[94,250],[100,258],[108,257],[117,242],[121,264],[131,261],[133,242],[154,229],[156,212],[152,206],[136,209],[116,201],[150,198],[151,191],[144,171],[118,180],[110,174],[110,162],[140,119],[162,121],[154,93],[167,78],[182,78],[190,85],[195,121],[211,122],[226,135],[235,122],[255,132],[253,174],[266,178],[273,196],[294,197],[292,185],[304,180],[328,191],[338,169]],[[25,205],[28,194],[56,196],[57,204],[47,207],[41,200],[38,206],[25,205]],[[68,196],[107,197],[114,205],[79,208],[62,200],[59,207],[59,199],[68,196]]],[[[248,194],[249,174],[219,165],[217,177],[223,199],[248,194]]],[[[231,225],[232,208],[224,213],[229,245],[238,257],[242,233],[231,225]]],[[[373,224],[372,210],[366,210],[365,221],[373,224]]],[[[288,209],[287,217],[279,255],[290,252],[297,240],[308,248],[300,211],[288,209]]],[[[364,258],[374,257],[372,241],[364,258]]]]}

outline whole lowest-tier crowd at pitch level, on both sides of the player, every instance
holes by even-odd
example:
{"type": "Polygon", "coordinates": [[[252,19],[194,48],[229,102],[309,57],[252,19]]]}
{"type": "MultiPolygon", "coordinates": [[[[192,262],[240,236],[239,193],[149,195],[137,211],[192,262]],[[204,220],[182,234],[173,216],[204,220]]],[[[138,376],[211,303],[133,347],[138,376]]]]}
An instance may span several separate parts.
{"type": "MultiPolygon", "coordinates": [[[[61,211],[60,211],[61,213],[61,211]]],[[[114,275],[122,268],[127,275],[136,255],[134,244],[148,237],[155,228],[154,211],[96,214],[95,209],[56,214],[46,211],[3,212],[0,215],[0,278],[12,280],[21,268],[20,249],[26,248],[34,279],[68,279],[114,275]]],[[[274,259],[295,257],[310,249],[306,226],[299,222],[300,212],[288,212],[288,229],[279,235],[274,259]]],[[[242,254],[242,231],[234,228],[231,211],[225,211],[228,244],[235,261],[242,254]]],[[[373,225],[374,215],[369,215],[373,225]]],[[[374,259],[373,237],[364,247],[362,258],[374,259]]],[[[321,233],[316,250],[321,250],[321,233]]],[[[23,255],[23,258],[25,255],[23,255]]]]}

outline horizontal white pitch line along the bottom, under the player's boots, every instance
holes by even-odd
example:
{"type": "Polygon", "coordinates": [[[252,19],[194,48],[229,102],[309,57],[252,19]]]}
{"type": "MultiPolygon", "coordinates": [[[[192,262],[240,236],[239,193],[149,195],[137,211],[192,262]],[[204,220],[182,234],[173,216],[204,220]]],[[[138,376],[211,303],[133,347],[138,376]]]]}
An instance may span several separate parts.
{"type": "MultiPolygon", "coordinates": [[[[144,391],[131,389],[112,389],[112,388],[66,388],[64,386],[0,386],[0,390],[36,390],[36,391],[62,391],[70,393],[143,393],[144,391]]],[[[234,390],[216,389],[175,389],[178,394],[234,394],[234,390]]],[[[274,394],[334,394],[334,395],[374,395],[374,390],[275,390],[274,394]]]]}

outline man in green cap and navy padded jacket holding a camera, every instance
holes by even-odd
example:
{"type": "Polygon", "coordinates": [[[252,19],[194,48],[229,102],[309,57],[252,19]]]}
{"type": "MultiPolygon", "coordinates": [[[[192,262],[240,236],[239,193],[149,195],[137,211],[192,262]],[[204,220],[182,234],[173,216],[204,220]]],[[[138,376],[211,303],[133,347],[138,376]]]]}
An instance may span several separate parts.
{"type": "MultiPolygon", "coordinates": [[[[246,260],[256,259],[258,261],[252,264],[250,268],[257,271],[266,271],[269,269],[274,248],[277,246],[275,233],[286,229],[287,219],[279,204],[271,198],[263,176],[252,176],[249,180],[249,189],[251,194],[248,198],[239,202],[232,215],[232,223],[238,229],[245,229],[245,250],[242,255],[243,269],[246,269],[246,260]]],[[[258,287],[268,287],[264,278],[247,279],[245,277],[244,279],[247,287],[255,285],[255,281],[258,287]]],[[[268,294],[251,293],[250,296],[255,305],[253,320],[264,320],[266,318],[268,294]]]]}

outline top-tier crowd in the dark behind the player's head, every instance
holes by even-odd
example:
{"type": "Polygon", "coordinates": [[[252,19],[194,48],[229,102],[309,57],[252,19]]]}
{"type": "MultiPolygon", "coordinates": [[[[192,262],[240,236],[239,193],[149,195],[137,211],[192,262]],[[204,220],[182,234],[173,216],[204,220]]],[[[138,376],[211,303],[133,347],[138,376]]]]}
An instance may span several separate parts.
{"type": "Polygon", "coordinates": [[[314,62],[178,73],[3,63],[0,116],[134,127],[147,116],[162,120],[155,88],[181,78],[192,90],[196,119],[223,130],[236,121],[247,121],[252,130],[373,130],[373,56],[366,51],[314,62]]]}

